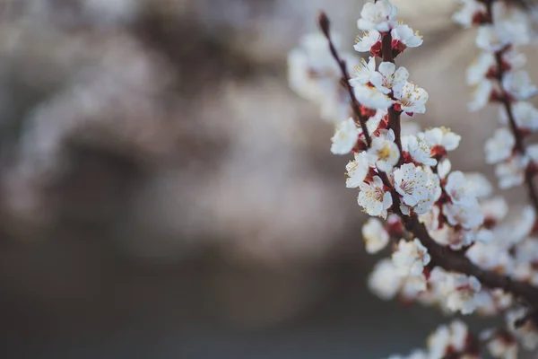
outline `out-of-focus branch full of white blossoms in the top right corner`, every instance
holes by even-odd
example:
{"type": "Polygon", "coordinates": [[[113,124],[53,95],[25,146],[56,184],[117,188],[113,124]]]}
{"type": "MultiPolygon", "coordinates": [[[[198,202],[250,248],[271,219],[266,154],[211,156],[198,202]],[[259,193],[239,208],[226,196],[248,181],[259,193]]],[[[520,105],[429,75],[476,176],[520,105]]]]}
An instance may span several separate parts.
{"type": "Polygon", "coordinates": [[[466,82],[473,86],[469,109],[488,103],[499,105],[498,128],[486,142],[486,162],[496,164],[500,188],[521,185],[527,171],[534,172],[538,145],[525,149],[523,138],[538,131],[538,109],[529,99],[538,92],[518,46],[529,43],[532,25],[521,10],[504,1],[465,0],[454,20],[465,28],[478,27],[480,55],[467,68],[466,82]]]}

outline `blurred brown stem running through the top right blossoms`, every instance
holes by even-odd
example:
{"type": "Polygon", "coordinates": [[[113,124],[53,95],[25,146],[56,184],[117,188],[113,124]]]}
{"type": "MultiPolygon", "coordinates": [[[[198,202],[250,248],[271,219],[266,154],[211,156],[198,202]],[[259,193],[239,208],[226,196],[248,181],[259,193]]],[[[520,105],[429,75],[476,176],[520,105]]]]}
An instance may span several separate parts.
{"type": "MultiPolygon", "coordinates": [[[[493,23],[493,1],[496,0],[488,0],[486,4],[487,9],[487,18],[486,22],[493,23]]],[[[525,141],[524,141],[524,135],[523,133],[517,128],[516,124],[516,118],[514,117],[514,111],[512,110],[512,102],[510,100],[510,97],[508,96],[508,93],[504,91],[502,88],[502,79],[504,75],[506,74],[506,70],[504,68],[503,60],[502,60],[502,53],[506,49],[503,48],[499,51],[495,52],[495,65],[497,66],[497,81],[499,83],[499,87],[501,90],[501,93],[499,95],[499,101],[501,105],[504,107],[505,111],[507,112],[508,116],[508,126],[510,127],[510,131],[512,132],[512,135],[514,136],[516,143],[514,144],[514,150],[516,153],[525,155],[526,148],[525,148],[525,141]]],[[[538,213],[538,192],[536,191],[536,188],[534,186],[534,172],[527,166],[525,169],[525,187],[527,194],[531,200],[531,203],[534,207],[534,211],[538,213]]]]}

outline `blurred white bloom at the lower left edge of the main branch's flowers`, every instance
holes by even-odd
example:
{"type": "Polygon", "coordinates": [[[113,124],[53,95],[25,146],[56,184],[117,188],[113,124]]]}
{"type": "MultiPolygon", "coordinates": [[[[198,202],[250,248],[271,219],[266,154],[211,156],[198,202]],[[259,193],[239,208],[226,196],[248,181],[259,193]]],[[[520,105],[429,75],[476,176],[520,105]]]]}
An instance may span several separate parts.
{"type": "Polygon", "coordinates": [[[398,275],[398,270],[389,258],[377,262],[368,279],[370,291],[379,298],[389,301],[400,291],[404,278],[398,275]]]}

